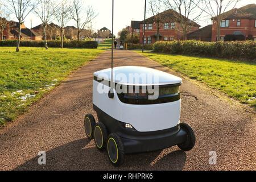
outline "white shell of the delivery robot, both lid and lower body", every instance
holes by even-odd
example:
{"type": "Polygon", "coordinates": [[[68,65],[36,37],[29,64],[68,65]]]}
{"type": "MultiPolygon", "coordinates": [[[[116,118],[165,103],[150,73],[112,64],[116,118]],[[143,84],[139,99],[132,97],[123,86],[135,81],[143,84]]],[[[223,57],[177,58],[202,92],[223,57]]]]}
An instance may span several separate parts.
{"type": "MultiPolygon", "coordinates": [[[[143,67],[118,67],[114,68],[114,83],[129,86],[150,86],[150,85],[179,85],[182,80],[179,77],[170,75],[155,69],[143,67]],[[122,75],[121,75],[122,74],[122,75]],[[124,77],[150,75],[148,80],[127,79],[124,77]],[[121,78],[122,77],[122,80],[121,78]],[[154,80],[155,79],[155,80],[154,80]]],[[[93,104],[101,109],[110,117],[128,123],[140,132],[150,132],[166,130],[179,125],[181,100],[166,102],[162,104],[135,105],[126,104],[119,100],[118,94],[114,89],[114,98],[109,99],[108,93],[102,93],[100,90],[109,90],[106,82],[110,82],[111,69],[105,69],[94,73],[93,81],[93,104]],[[97,81],[96,81],[97,80],[97,81]],[[99,82],[100,80],[101,82],[99,82]],[[102,81],[105,80],[105,81],[102,81]]],[[[159,88],[160,89],[160,88],[159,88]]],[[[179,90],[179,89],[177,89],[179,90]]],[[[173,93],[172,93],[173,94],[173,93]]],[[[176,93],[179,94],[179,93],[176,93]]]]}

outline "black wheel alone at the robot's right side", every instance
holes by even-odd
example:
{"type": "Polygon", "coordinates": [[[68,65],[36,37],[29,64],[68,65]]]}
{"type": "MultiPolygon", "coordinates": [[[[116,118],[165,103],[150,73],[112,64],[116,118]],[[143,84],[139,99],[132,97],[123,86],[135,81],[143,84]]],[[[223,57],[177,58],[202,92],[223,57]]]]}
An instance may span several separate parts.
{"type": "Polygon", "coordinates": [[[192,127],[187,123],[180,123],[180,128],[187,132],[187,140],[177,146],[183,151],[192,150],[196,144],[196,136],[192,127]]]}

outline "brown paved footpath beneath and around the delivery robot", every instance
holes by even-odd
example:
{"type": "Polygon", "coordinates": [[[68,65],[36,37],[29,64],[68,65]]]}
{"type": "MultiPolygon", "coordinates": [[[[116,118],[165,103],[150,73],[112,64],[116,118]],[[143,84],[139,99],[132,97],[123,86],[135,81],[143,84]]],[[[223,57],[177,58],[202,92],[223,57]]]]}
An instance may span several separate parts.
{"type": "MultiPolygon", "coordinates": [[[[172,72],[131,51],[115,51],[115,66],[142,65],[172,72]]],[[[93,72],[110,67],[110,52],[102,53],[71,75],[67,81],[33,105],[28,113],[0,131],[0,169],[7,170],[256,170],[255,114],[184,80],[181,86],[181,121],[195,130],[192,151],[177,147],[148,154],[129,155],[114,168],[106,152],[97,151],[85,137],[84,115],[92,108],[93,72]],[[38,152],[46,151],[47,163],[38,165],[38,152]],[[217,152],[217,165],[209,152],[217,152]]],[[[177,73],[174,73],[177,74],[177,73]]]]}

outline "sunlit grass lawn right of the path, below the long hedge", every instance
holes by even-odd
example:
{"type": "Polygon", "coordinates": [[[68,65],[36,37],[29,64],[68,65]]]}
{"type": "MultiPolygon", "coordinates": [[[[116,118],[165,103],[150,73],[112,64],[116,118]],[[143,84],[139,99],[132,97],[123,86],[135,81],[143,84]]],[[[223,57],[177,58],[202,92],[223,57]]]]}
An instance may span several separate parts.
{"type": "Polygon", "coordinates": [[[256,109],[256,64],[152,52],[142,55],[256,109]]]}

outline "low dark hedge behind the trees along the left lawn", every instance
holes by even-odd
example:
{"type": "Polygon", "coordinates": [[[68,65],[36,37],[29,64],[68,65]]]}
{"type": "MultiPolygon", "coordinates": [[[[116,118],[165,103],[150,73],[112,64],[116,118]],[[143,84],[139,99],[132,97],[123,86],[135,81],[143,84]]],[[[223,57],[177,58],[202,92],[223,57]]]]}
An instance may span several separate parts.
{"type": "MultiPolygon", "coordinates": [[[[17,41],[16,40],[3,40],[0,41],[0,47],[15,47],[17,41]]],[[[47,41],[48,47],[60,47],[59,40],[49,40],[47,41]]],[[[21,47],[44,47],[43,41],[20,41],[21,47]]],[[[96,41],[84,41],[81,40],[78,42],[77,40],[65,40],[63,43],[65,48],[97,48],[98,43],[96,41]]]]}

